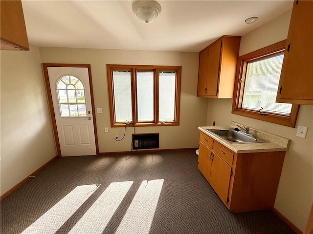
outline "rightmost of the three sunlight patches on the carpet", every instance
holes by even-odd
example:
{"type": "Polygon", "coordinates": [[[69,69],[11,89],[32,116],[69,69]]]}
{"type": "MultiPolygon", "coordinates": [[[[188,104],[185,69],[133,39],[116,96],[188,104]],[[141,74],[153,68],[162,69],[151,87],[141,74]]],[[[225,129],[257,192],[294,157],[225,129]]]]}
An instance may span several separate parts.
{"type": "Polygon", "coordinates": [[[143,180],[115,234],[149,234],[164,179],[143,180]]]}

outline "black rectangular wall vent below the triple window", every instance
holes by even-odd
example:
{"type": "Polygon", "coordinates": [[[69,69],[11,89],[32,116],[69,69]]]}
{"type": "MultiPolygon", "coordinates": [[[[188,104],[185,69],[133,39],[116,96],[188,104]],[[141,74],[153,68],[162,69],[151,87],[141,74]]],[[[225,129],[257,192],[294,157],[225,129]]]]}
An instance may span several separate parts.
{"type": "Polygon", "coordinates": [[[133,134],[133,150],[157,148],[158,133],[133,134]]]}

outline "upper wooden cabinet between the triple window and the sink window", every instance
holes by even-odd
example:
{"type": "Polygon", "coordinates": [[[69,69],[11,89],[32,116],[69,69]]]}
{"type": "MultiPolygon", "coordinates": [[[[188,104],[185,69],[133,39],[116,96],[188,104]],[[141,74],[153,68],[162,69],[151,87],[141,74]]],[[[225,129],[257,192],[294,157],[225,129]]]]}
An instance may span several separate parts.
{"type": "Polygon", "coordinates": [[[223,36],[200,52],[198,97],[233,97],[240,38],[223,36]]]}

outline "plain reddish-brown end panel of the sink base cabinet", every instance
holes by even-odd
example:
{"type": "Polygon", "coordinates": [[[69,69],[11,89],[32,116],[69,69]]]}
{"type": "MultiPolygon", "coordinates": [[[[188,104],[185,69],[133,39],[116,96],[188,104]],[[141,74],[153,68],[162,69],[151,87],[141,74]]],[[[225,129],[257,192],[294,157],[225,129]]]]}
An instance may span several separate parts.
{"type": "Polygon", "coordinates": [[[235,156],[230,180],[230,211],[270,210],[274,206],[285,151],[235,156]]]}

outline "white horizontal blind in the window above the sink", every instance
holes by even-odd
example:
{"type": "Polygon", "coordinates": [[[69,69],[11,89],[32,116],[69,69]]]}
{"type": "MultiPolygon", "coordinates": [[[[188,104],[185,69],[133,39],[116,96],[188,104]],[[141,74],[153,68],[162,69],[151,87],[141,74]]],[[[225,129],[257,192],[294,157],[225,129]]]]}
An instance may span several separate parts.
{"type": "Polygon", "coordinates": [[[283,59],[279,53],[247,63],[242,108],[290,115],[292,104],[276,102],[283,59]]]}

